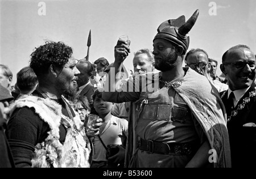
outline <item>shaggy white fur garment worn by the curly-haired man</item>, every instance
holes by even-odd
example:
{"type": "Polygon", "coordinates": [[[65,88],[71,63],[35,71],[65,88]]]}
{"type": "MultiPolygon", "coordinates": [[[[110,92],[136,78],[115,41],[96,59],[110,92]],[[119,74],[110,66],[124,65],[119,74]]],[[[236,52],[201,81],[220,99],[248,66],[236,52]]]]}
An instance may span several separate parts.
{"type": "Polygon", "coordinates": [[[90,167],[90,144],[79,116],[74,117],[72,121],[62,114],[60,104],[38,96],[20,97],[10,106],[7,116],[10,117],[16,108],[25,106],[34,108],[35,113],[48,123],[50,128],[44,142],[35,146],[32,167],[90,167]],[[67,129],[63,144],[59,141],[60,123],[67,129]]]}

